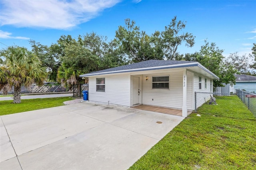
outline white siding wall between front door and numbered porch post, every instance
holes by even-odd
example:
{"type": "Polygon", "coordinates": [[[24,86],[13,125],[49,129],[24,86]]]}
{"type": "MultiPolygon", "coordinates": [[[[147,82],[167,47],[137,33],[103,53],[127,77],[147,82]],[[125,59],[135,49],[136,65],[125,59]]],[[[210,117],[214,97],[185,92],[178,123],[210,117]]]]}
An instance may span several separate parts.
{"type": "Polygon", "coordinates": [[[183,104],[183,72],[182,70],[161,74],[147,74],[142,77],[142,104],[182,109],[183,104]],[[152,89],[152,76],[170,76],[170,89],[152,89]],[[153,99],[153,100],[152,100],[153,99]]]}

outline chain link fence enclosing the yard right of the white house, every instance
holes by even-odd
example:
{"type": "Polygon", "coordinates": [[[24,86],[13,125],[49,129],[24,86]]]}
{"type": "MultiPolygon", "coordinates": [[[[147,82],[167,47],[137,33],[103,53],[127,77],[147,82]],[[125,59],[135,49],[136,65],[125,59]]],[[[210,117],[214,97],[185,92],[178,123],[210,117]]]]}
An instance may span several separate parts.
{"type": "MultiPolygon", "coordinates": [[[[195,92],[195,112],[198,107],[202,106],[204,103],[209,105],[211,96],[216,99],[216,103],[218,104],[218,99],[225,99],[228,105],[228,97],[237,96],[241,99],[241,101],[248,107],[248,109],[254,114],[256,117],[256,94],[249,93],[242,90],[236,90],[236,93],[201,93],[195,92]]],[[[211,103],[213,104],[213,103],[211,103]]]]}

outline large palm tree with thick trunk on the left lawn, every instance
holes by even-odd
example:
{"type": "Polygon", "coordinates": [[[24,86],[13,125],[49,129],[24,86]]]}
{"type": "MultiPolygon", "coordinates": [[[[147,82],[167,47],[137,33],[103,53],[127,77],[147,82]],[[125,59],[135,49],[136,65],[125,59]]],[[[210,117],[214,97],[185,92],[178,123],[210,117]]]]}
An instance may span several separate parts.
{"type": "Polygon", "coordinates": [[[10,46],[0,50],[4,57],[0,65],[0,90],[7,94],[14,86],[13,103],[20,103],[21,86],[30,88],[32,83],[43,85],[47,72],[41,61],[24,47],[10,46]]]}

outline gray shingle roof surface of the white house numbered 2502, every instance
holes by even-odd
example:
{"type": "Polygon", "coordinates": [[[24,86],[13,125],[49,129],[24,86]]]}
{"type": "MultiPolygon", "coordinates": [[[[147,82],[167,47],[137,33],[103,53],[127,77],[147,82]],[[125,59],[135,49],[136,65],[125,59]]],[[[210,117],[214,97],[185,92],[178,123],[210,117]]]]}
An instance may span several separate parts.
{"type": "MultiPolygon", "coordinates": [[[[111,72],[111,71],[122,71],[122,70],[130,70],[130,69],[142,69],[142,68],[148,68],[148,67],[177,65],[177,64],[185,64],[185,63],[194,63],[194,61],[173,61],[173,60],[151,59],[151,60],[142,61],[139,63],[133,63],[133,64],[128,64],[128,65],[123,65],[120,67],[114,67],[114,68],[110,68],[110,69],[95,71],[95,72],[88,73],[88,74],[104,73],[104,72],[111,72]]],[[[85,74],[85,75],[87,75],[87,74],[85,74]]],[[[84,76],[84,75],[81,75],[81,76],[84,76]]]]}

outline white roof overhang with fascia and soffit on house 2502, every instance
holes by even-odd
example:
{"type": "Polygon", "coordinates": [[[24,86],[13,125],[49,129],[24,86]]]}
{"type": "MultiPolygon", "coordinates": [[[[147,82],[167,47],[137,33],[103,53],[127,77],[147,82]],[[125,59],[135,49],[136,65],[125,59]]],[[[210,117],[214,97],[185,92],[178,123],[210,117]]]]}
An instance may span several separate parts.
{"type": "Polygon", "coordinates": [[[176,64],[176,65],[164,65],[158,67],[145,67],[145,68],[138,68],[138,69],[126,69],[126,70],[118,70],[118,71],[107,71],[107,72],[100,72],[100,73],[88,73],[84,75],[80,75],[80,77],[92,77],[98,75],[108,75],[108,74],[118,74],[118,73],[136,73],[136,74],[146,74],[150,73],[150,71],[154,70],[169,70],[169,69],[188,69],[192,72],[204,75],[211,79],[219,79],[214,73],[206,69],[203,65],[198,62],[194,63],[183,63],[183,64],[176,64]]]}

